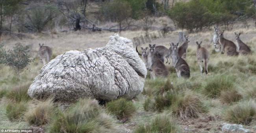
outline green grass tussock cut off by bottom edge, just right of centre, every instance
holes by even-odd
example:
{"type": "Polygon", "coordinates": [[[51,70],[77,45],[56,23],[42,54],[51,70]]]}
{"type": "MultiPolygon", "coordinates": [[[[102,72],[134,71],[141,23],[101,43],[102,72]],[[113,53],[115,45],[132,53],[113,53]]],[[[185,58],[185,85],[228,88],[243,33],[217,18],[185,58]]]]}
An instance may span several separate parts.
{"type": "Polygon", "coordinates": [[[134,133],[178,133],[179,127],[170,115],[161,114],[150,123],[140,124],[134,133]]]}

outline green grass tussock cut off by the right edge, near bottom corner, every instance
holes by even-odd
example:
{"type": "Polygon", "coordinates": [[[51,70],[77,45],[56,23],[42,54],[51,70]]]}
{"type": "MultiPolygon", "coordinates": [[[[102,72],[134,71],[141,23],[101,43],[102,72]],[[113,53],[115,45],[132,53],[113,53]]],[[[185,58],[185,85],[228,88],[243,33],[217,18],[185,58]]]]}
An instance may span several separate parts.
{"type": "Polygon", "coordinates": [[[226,109],[224,120],[236,124],[252,125],[256,122],[256,102],[244,101],[226,109]]]}

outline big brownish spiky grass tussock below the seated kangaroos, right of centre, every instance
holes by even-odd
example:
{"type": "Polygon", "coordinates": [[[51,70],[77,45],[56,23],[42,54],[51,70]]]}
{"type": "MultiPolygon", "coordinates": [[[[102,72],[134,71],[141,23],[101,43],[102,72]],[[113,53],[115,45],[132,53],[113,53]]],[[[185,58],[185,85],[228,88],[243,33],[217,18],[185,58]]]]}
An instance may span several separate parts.
{"type": "Polygon", "coordinates": [[[172,105],[171,110],[180,118],[198,118],[200,113],[206,112],[203,102],[200,97],[192,91],[185,92],[184,96],[177,97],[172,105]]]}

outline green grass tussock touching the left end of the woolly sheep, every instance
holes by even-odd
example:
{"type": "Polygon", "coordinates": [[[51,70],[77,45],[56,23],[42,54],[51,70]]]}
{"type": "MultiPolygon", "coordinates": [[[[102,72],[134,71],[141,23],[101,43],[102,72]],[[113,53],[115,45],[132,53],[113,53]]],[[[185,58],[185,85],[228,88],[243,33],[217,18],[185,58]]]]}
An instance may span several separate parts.
{"type": "Polygon", "coordinates": [[[6,97],[16,102],[28,101],[31,99],[30,96],[28,96],[29,86],[30,83],[26,83],[24,85],[13,87],[11,91],[7,92],[6,97]]]}

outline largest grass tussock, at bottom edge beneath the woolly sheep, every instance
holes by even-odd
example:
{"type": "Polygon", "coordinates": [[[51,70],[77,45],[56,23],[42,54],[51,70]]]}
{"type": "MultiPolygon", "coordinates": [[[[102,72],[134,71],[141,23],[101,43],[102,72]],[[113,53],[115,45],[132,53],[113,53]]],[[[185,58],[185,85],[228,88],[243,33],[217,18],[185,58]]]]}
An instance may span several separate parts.
{"type": "Polygon", "coordinates": [[[118,133],[113,119],[106,115],[97,100],[80,99],[50,122],[49,133],[118,133]]]}

